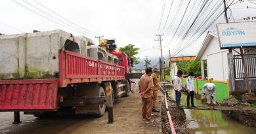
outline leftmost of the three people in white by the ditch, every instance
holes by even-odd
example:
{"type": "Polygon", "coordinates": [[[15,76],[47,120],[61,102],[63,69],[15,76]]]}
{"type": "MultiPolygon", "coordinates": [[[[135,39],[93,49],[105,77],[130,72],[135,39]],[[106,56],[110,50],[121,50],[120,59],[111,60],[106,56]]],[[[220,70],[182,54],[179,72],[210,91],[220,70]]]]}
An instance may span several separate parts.
{"type": "Polygon", "coordinates": [[[180,106],[181,103],[181,90],[182,90],[182,83],[181,83],[181,75],[183,72],[178,70],[177,75],[173,77],[173,88],[175,90],[175,99],[177,107],[180,106]]]}

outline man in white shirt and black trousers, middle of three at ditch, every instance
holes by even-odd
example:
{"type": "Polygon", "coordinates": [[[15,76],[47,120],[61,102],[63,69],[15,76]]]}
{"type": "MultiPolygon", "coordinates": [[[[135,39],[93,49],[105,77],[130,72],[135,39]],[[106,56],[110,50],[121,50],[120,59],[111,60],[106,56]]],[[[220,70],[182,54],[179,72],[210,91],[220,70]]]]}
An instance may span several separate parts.
{"type": "Polygon", "coordinates": [[[190,108],[190,97],[191,97],[191,107],[196,108],[194,105],[194,94],[195,94],[195,86],[194,86],[194,72],[188,73],[188,78],[186,78],[186,92],[188,93],[188,97],[186,97],[186,107],[190,108]]]}

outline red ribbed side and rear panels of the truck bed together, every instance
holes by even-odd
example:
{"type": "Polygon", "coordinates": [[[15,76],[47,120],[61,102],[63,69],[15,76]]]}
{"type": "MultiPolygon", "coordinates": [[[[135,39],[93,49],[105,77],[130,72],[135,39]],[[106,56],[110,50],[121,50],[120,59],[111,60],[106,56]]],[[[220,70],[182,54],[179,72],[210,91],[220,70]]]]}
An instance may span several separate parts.
{"type": "Polygon", "coordinates": [[[124,67],[82,56],[59,52],[59,78],[0,80],[1,111],[57,110],[58,88],[81,82],[125,80],[124,67]]]}

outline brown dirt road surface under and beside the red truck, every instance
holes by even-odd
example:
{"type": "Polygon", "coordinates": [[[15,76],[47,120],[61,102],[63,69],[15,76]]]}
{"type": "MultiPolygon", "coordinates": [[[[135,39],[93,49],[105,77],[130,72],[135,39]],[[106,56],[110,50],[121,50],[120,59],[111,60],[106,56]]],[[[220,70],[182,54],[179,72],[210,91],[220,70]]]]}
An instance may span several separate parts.
{"type": "MultiPolygon", "coordinates": [[[[158,93],[158,106],[163,100],[158,93]]],[[[153,123],[146,124],[141,116],[142,101],[139,93],[120,97],[114,103],[114,124],[107,124],[108,113],[101,118],[60,113],[53,118],[36,118],[20,112],[21,124],[12,125],[13,112],[0,112],[0,133],[161,133],[161,112],[152,116],[153,123]]]]}

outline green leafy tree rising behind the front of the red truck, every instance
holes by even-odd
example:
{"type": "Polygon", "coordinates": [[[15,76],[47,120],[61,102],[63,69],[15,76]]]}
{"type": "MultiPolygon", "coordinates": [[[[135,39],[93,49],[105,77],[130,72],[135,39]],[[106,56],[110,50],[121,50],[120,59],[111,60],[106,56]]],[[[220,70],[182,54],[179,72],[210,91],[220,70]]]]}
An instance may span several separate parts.
{"type": "Polygon", "coordinates": [[[130,60],[131,60],[131,58],[133,58],[133,62],[135,64],[140,63],[139,58],[135,57],[137,54],[139,54],[139,52],[138,52],[139,49],[140,48],[135,48],[135,44],[127,44],[123,48],[122,47],[119,48],[119,50],[121,52],[125,52],[125,54],[129,55],[130,60]]]}

